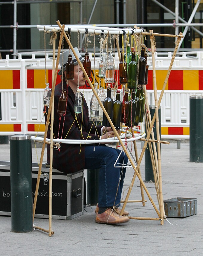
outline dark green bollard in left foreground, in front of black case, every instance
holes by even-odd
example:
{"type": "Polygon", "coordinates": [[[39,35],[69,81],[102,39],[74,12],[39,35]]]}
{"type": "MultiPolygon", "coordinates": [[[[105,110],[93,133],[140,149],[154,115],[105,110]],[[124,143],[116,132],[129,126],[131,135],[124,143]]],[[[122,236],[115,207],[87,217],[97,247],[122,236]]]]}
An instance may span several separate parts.
{"type": "Polygon", "coordinates": [[[11,231],[33,230],[31,136],[10,136],[11,231]]]}

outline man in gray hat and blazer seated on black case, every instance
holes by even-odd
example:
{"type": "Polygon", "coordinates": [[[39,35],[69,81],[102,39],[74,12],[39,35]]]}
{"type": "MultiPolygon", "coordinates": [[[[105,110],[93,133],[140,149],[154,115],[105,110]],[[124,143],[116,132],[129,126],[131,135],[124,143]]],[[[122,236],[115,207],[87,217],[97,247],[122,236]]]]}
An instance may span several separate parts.
{"type": "MultiPolygon", "coordinates": [[[[77,56],[83,62],[77,48],[74,48],[77,56]]],[[[71,50],[70,50],[71,51],[71,50]]],[[[54,92],[54,138],[74,139],[74,140],[99,140],[115,137],[115,134],[110,127],[97,126],[95,128],[88,117],[88,107],[85,98],[83,98],[83,111],[81,114],[75,114],[74,101],[78,87],[83,86],[84,78],[83,71],[78,65],[78,62],[72,52],[74,62],[74,79],[68,80],[67,87],[67,107],[64,116],[59,120],[57,112],[59,97],[62,94],[62,86],[66,88],[66,71],[65,64],[68,60],[69,50],[60,54],[59,64],[61,70],[59,75],[62,75],[62,81],[55,87],[54,92]],[[62,56],[63,54],[63,56],[62,56]],[[64,65],[62,65],[62,59],[64,65]],[[77,121],[75,120],[77,116],[77,121]],[[60,125],[59,125],[60,124],[60,125]],[[96,131],[97,130],[97,131],[96,131]],[[96,134],[96,135],[95,135],[96,134]],[[97,135],[100,134],[101,136],[97,135]]],[[[45,115],[46,116],[46,115],[45,115]]],[[[46,120],[47,116],[45,117],[46,120]]],[[[48,128],[47,137],[50,138],[50,127],[48,128]]],[[[81,169],[100,169],[99,170],[99,194],[98,204],[95,209],[96,222],[117,224],[129,221],[126,217],[129,215],[124,211],[123,216],[119,215],[121,191],[125,177],[126,168],[115,168],[114,164],[120,154],[119,149],[108,147],[105,144],[65,144],[62,143],[59,150],[53,149],[53,167],[65,173],[74,173],[81,169]]],[[[50,159],[50,146],[47,145],[47,162],[50,159]]],[[[120,155],[117,163],[126,165],[128,158],[124,152],[120,155]]],[[[118,165],[117,165],[118,166],[118,165]]]]}

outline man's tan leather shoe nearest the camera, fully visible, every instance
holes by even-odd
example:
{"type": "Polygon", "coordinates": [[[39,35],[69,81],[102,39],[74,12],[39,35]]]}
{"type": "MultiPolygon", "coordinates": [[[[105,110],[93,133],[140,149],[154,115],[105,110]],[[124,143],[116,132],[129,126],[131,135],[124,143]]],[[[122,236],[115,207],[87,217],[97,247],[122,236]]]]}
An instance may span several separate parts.
{"type": "Polygon", "coordinates": [[[103,223],[103,224],[118,224],[118,223],[124,223],[129,221],[129,218],[120,216],[113,209],[109,207],[106,209],[105,212],[101,214],[97,212],[95,221],[97,223],[103,223]]]}

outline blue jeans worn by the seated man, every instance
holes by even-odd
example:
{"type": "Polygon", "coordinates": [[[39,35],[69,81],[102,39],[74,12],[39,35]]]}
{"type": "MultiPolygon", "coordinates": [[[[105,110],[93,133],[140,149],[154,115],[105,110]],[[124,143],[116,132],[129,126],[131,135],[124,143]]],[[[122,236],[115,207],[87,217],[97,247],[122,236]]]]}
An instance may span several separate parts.
{"type": "Polygon", "coordinates": [[[119,154],[120,149],[111,148],[104,144],[100,144],[99,146],[85,146],[85,169],[100,169],[98,194],[100,207],[120,205],[126,168],[122,168],[118,163],[126,165],[128,158],[122,152],[116,164],[116,166],[121,167],[115,168],[114,164],[119,154]],[[120,178],[121,180],[119,182],[120,178]]]}

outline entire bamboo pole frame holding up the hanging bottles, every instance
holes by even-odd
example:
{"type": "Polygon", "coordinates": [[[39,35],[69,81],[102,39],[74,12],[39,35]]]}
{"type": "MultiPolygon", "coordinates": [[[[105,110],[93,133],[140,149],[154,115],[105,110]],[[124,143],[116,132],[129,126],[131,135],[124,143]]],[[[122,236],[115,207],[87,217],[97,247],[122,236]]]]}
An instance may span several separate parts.
{"type": "MultiPolygon", "coordinates": [[[[71,44],[71,42],[69,41],[65,31],[64,31],[64,28],[65,28],[65,25],[61,25],[59,21],[57,21],[57,24],[61,30],[61,35],[60,35],[60,40],[59,40],[59,47],[58,47],[58,53],[60,53],[60,50],[61,50],[61,44],[62,44],[62,38],[64,36],[65,40],[67,41],[68,43],[68,46],[70,47],[70,49],[72,50],[78,64],[80,65],[80,68],[82,69],[83,73],[85,74],[85,77],[86,77],[86,80],[87,82],[89,83],[95,97],[97,98],[104,114],[106,115],[115,135],[117,136],[119,142],[120,142],[120,145],[122,146],[123,148],[123,151],[125,152],[126,156],[128,157],[135,173],[133,175],[133,178],[132,178],[132,186],[134,184],[134,181],[135,181],[135,177],[138,176],[138,179],[140,181],[140,185],[141,185],[141,195],[142,195],[142,200],[129,200],[128,201],[128,198],[129,198],[129,195],[131,193],[131,190],[132,190],[132,186],[129,187],[129,190],[128,190],[128,193],[127,193],[127,196],[125,198],[125,200],[123,201],[123,207],[122,207],[122,210],[121,210],[121,213],[120,215],[123,214],[123,211],[126,207],[126,203],[127,202],[138,202],[138,201],[141,201],[144,205],[145,201],[144,200],[144,191],[143,189],[145,190],[150,202],[152,203],[152,206],[154,207],[157,215],[158,215],[158,218],[146,218],[146,217],[129,217],[131,219],[141,219],[141,220],[160,220],[161,221],[161,225],[164,224],[164,209],[163,209],[163,196],[162,196],[162,186],[161,186],[161,183],[162,183],[162,177],[161,177],[161,154],[160,154],[160,143],[167,143],[167,142],[163,142],[163,141],[160,141],[160,138],[157,138],[157,140],[154,140],[154,137],[152,136],[152,140],[149,138],[150,137],[150,134],[152,133],[153,134],[153,124],[156,120],[156,122],[158,122],[158,108],[160,106],[160,103],[161,103],[161,99],[163,97],[163,93],[164,93],[164,90],[165,90],[165,87],[166,87],[166,84],[167,84],[167,80],[168,80],[168,77],[169,77],[169,74],[170,74],[170,71],[172,69],[172,65],[173,65],[173,62],[174,62],[174,58],[175,58],[175,55],[176,55],[176,52],[178,50],[178,45],[180,43],[180,39],[182,37],[182,33],[180,33],[180,35],[165,35],[165,34],[155,34],[153,33],[153,31],[151,33],[141,33],[142,35],[150,35],[150,41],[151,41],[151,48],[152,48],[152,67],[153,67],[153,81],[154,81],[154,84],[155,84],[155,94],[156,94],[156,99],[155,99],[155,107],[157,108],[157,110],[155,111],[155,114],[153,116],[153,119],[150,121],[150,118],[148,119],[148,123],[149,123],[149,127],[148,127],[148,134],[147,134],[147,137],[146,139],[144,139],[144,146],[143,146],[143,149],[142,149],[142,152],[141,152],[141,155],[138,159],[138,154],[137,154],[137,147],[136,147],[136,142],[133,141],[133,144],[134,144],[134,149],[135,149],[135,157],[136,157],[136,161],[138,162],[137,166],[135,166],[134,164],[134,161],[132,161],[129,153],[127,152],[127,149],[126,147],[124,146],[122,140],[120,139],[120,136],[117,132],[117,130],[115,129],[115,126],[113,125],[111,119],[109,118],[108,116],[108,113],[106,112],[105,108],[103,107],[103,104],[102,102],[100,101],[100,98],[98,97],[96,91],[94,90],[94,86],[92,85],[88,75],[86,74],[86,71],[85,69],[83,68],[83,65],[82,63],[80,62],[77,54],[75,53],[74,51],[74,48],[71,44]],[[163,85],[163,88],[162,88],[162,91],[161,91],[161,95],[159,97],[159,100],[157,100],[157,92],[156,92],[156,76],[155,76],[155,61],[154,61],[154,42],[153,42],[153,35],[157,35],[157,36],[170,36],[170,37],[177,37],[178,40],[176,42],[176,47],[175,47],[175,50],[174,50],[174,53],[173,53],[173,57],[171,59],[171,63],[170,63],[170,67],[169,67],[169,70],[167,72],[167,76],[166,76],[166,79],[164,80],[164,85],[163,85]],[[153,163],[155,162],[158,162],[158,184],[155,186],[156,187],[159,187],[159,190],[158,191],[158,195],[159,195],[159,209],[160,211],[158,211],[154,201],[152,200],[152,197],[151,195],[149,194],[142,178],[141,178],[141,175],[140,175],[140,171],[139,171],[139,168],[140,168],[140,164],[141,164],[141,160],[143,158],[143,155],[144,155],[144,151],[146,149],[146,146],[147,146],[147,143],[153,143],[153,145],[155,145],[155,142],[159,145],[159,149],[158,149],[158,159],[157,161],[153,161],[153,163]]],[[[36,200],[37,200],[37,194],[38,194],[38,189],[39,189],[39,181],[40,181],[40,175],[41,175],[41,168],[42,168],[42,161],[43,161],[43,156],[44,156],[44,149],[45,149],[45,143],[46,143],[46,136],[47,136],[47,131],[48,131],[48,124],[49,124],[49,119],[50,119],[50,116],[51,116],[51,113],[53,113],[53,110],[52,107],[53,107],[53,104],[54,104],[54,89],[55,89],[55,84],[56,84],[56,78],[57,78],[57,71],[58,71],[58,65],[59,65],[59,56],[60,54],[57,55],[57,62],[56,62],[56,67],[55,67],[55,71],[54,71],[54,79],[53,79],[53,84],[52,84],[52,93],[51,93],[51,98],[50,98],[50,107],[49,107],[49,110],[48,110],[48,116],[47,116],[47,122],[46,122],[46,126],[45,126],[45,134],[44,134],[44,140],[43,140],[43,145],[42,145],[42,152],[41,152],[41,158],[40,158],[40,163],[39,163],[39,172],[38,172],[38,177],[37,177],[37,184],[36,184],[36,191],[35,191],[35,199],[34,199],[34,204],[33,204],[33,220],[34,220],[34,214],[35,214],[35,209],[36,209],[36,200]]],[[[54,60],[53,60],[53,63],[54,63],[54,60]]],[[[54,70],[54,65],[53,65],[53,70],[54,70]]],[[[145,92],[146,92],[146,86],[144,87],[145,89],[145,92]]],[[[147,93],[145,94],[147,95],[147,93]]],[[[148,101],[147,101],[148,102],[148,101]]],[[[149,107],[149,105],[148,105],[149,107]]],[[[147,107],[147,108],[148,108],[147,107]]],[[[148,112],[149,113],[149,112],[148,112]]],[[[149,115],[148,115],[149,116],[149,115]]],[[[54,119],[53,119],[53,116],[51,116],[51,127],[52,127],[52,130],[51,130],[51,134],[53,134],[53,122],[54,122],[54,119]]],[[[159,126],[157,125],[158,129],[159,129],[159,126]]],[[[157,133],[159,134],[159,132],[157,133]]],[[[53,137],[51,138],[51,151],[53,152],[53,137]]],[[[52,153],[50,154],[50,173],[52,173],[52,158],[53,155],[52,153]]],[[[152,158],[153,159],[153,158],[152,158]]],[[[155,164],[154,164],[155,166],[155,164]]],[[[155,173],[155,176],[157,176],[157,173],[155,173]]],[[[51,177],[50,177],[51,179],[51,177]]],[[[51,182],[50,182],[51,184],[51,182]]],[[[50,188],[49,188],[49,192],[51,194],[51,185],[50,185],[50,188]]],[[[49,196],[49,230],[45,230],[45,229],[42,229],[42,228],[39,228],[40,230],[43,230],[45,232],[48,232],[49,233],[49,236],[51,236],[51,234],[53,234],[53,232],[51,232],[51,195],[49,196]]]]}

